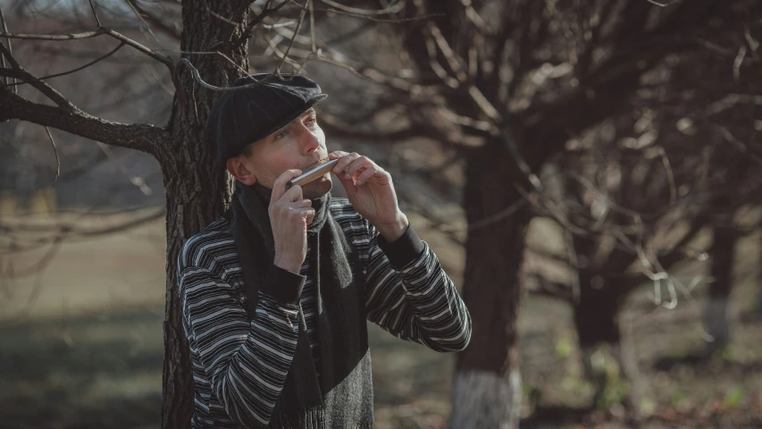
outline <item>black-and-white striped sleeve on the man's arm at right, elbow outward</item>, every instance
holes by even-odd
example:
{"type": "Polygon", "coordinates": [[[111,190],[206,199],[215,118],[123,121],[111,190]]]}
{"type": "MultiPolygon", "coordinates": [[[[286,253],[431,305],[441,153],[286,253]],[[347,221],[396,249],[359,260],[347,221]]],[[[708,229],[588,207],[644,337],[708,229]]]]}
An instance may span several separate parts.
{"type": "Polygon", "coordinates": [[[436,351],[465,349],[471,339],[471,316],[431,248],[412,226],[391,243],[373,224],[366,226],[368,320],[436,351]]]}

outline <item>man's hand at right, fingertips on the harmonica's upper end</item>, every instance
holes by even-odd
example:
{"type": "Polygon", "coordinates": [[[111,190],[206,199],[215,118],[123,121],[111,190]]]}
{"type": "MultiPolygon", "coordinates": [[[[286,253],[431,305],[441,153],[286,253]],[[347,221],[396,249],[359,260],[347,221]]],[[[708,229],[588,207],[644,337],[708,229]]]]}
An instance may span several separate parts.
{"type": "Polygon", "coordinates": [[[366,156],[337,150],[328,159],[339,159],[332,172],[339,179],[357,213],[373,223],[384,239],[397,240],[407,228],[399,210],[391,175],[366,156]]]}

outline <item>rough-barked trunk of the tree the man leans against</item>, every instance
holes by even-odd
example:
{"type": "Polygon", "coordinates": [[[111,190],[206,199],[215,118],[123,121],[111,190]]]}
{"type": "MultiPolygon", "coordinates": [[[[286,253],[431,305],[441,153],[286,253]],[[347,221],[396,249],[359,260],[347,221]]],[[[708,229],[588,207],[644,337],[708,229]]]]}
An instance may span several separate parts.
{"type": "MultiPolygon", "coordinates": [[[[207,11],[231,21],[246,24],[247,1],[209,2],[189,0],[182,6],[182,38],[185,52],[209,51],[213,44],[239,35],[242,26],[222,21],[207,11]]],[[[228,55],[184,55],[200,72],[202,79],[227,86],[248,70],[247,44],[223,44],[211,50],[228,55]],[[241,70],[239,70],[240,67],[241,70]]],[[[185,66],[179,66],[179,79],[185,100],[176,94],[172,117],[166,127],[166,140],[157,158],[162,166],[167,195],[167,283],[164,314],[163,428],[187,428],[193,414],[193,377],[188,341],[182,326],[182,311],[177,285],[177,258],[185,240],[217,219],[230,201],[230,182],[225,169],[214,159],[214,147],[202,139],[204,123],[214,100],[221,93],[202,88],[185,66]]]]}

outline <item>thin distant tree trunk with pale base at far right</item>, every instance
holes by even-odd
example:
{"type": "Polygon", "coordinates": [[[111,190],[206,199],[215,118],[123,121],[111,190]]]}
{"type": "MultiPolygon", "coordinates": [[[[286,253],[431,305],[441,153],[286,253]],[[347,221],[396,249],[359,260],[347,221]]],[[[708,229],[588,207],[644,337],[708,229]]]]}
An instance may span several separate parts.
{"type": "Polygon", "coordinates": [[[708,302],[704,309],[704,329],[708,333],[707,352],[721,349],[730,341],[730,324],[727,307],[733,288],[733,263],[738,232],[733,227],[717,226],[710,249],[712,277],[709,283],[708,302]]]}

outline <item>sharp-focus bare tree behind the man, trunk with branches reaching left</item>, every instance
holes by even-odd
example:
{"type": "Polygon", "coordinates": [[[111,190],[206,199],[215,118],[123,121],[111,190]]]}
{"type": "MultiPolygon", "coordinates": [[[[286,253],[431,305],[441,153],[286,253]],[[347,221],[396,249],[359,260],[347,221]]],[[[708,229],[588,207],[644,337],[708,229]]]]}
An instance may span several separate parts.
{"type": "MultiPolygon", "coordinates": [[[[136,2],[127,1],[135,5],[136,2]]],[[[271,5],[268,2],[264,8],[271,5]]],[[[247,38],[241,37],[255,22],[257,13],[251,2],[186,2],[180,8],[173,2],[159,2],[170,12],[180,14],[181,56],[204,75],[205,81],[225,86],[248,72],[247,38]]],[[[141,18],[147,30],[158,31],[165,22],[161,10],[141,4],[141,18]],[[147,18],[143,18],[146,16],[147,18]]],[[[176,284],[176,260],[182,242],[200,231],[220,214],[230,198],[230,183],[224,169],[214,162],[214,150],[202,144],[201,130],[219,92],[204,88],[193,78],[191,69],[175,55],[166,55],[160,47],[149,47],[123,32],[113,29],[101,18],[100,4],[90,3],[92,15],[84,28],[68,34],[13,33],[13,22],[3,20],[3,68],[0,76],[0,120],[21,120],[70,132],[114,147],[129,147],[146,152],[158,160],[167,191],[167,283],[164,330],[163,427],[187,427],[193,408],[193,384],[190,376],[188,345],[182,331],[180,299],[176,284]],[[78,32],[77,32],[78,31],[78,32]],[[13,42],[19,39],[63,41],[83,38],[113,39],[119,46],[146,55],[163,67],[175,91],[172,114],[163,126],[144,123],[108,121],[83,111],[71,103],[41,76],[29,72],[13,55],[13,42]],[[18,88],[29,85],[46,99],[35,102],[22,97],[18,88]]],[[[136,10],[138,13],[140,9],[136,10]]],[[[257,9],[263,13],[263,8],[257,9]]],[[[105,15],[106,16],[106,15],[105,15]]],[[[104,52],[105,56],[107,52],[104,52]]]]}

